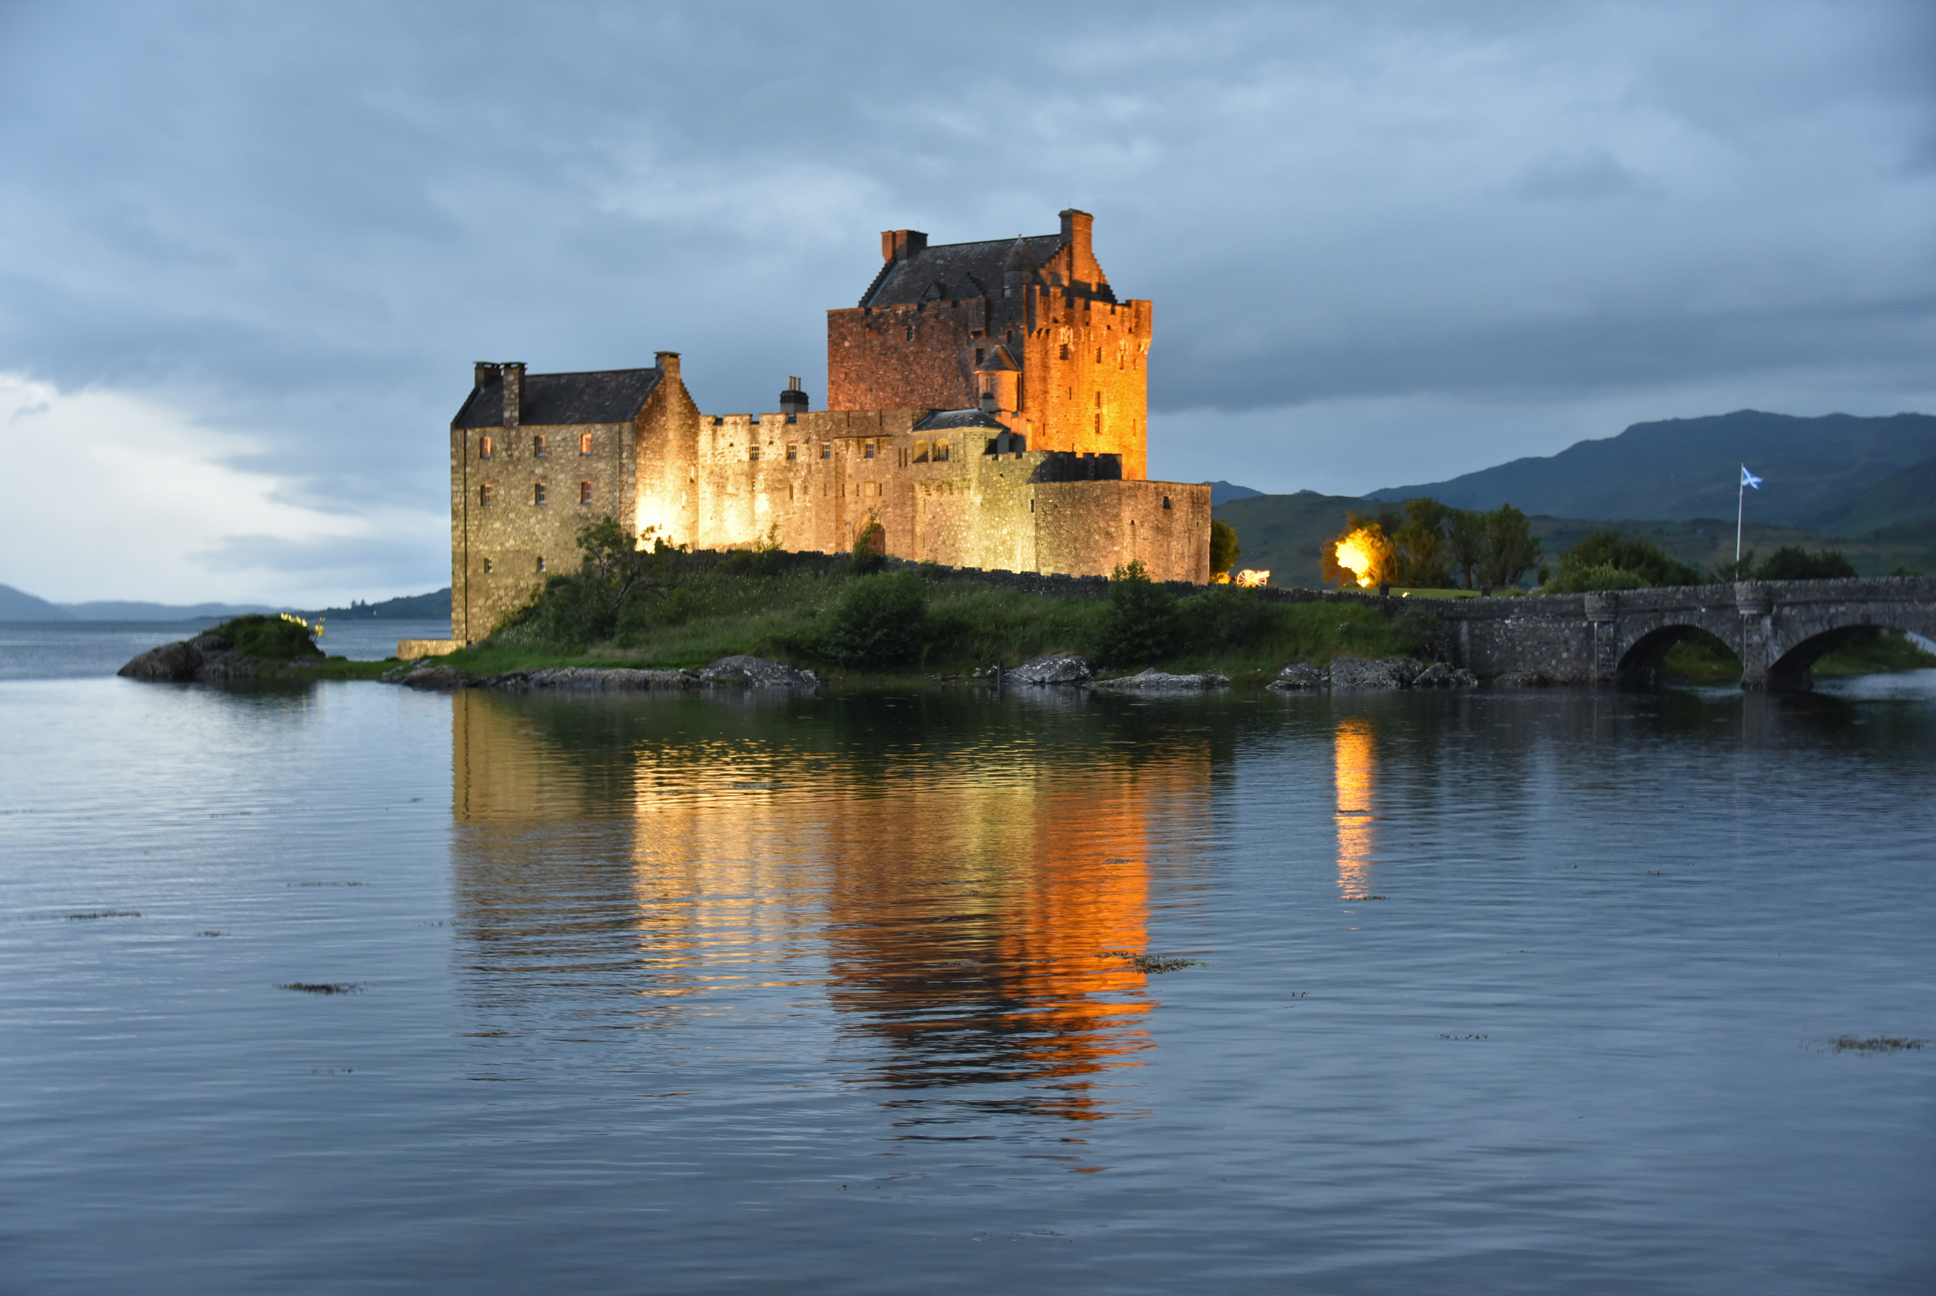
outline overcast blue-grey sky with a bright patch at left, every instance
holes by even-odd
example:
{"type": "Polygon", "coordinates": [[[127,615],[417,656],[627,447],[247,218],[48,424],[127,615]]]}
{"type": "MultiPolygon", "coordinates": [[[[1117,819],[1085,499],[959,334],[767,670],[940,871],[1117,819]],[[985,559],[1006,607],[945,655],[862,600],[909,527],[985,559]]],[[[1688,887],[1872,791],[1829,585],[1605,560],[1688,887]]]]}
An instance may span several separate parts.
{"type": "Polygon", "coordinates": [[[1096,213],[1150,473],[1936,411],[1936,6],[0,0],[0,581],[449,581],[470,362],[825,393],[879,231],[1096,213]]]}

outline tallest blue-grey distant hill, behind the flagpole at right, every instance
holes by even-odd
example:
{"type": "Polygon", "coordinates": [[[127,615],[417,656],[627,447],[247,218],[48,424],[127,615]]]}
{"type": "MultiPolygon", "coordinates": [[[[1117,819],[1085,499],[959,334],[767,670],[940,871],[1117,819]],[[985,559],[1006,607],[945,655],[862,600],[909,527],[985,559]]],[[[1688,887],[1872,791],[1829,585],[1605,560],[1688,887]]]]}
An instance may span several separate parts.
{"type": "MultiPolygon", "coordinates": [[[[1853,508],[1851,500],[1866,490],[1932,457],[1932,415],[1793,418],[1744,409],[1636,422],[1618,436],[1576,442],[1551,457],[1514,459],[1444,482],[1388,486],[1371,498],[1433,496],[1475,509],[1512,504],[1551,517],[1733,517],[1739,465],[1746,463],[1764,482],[1748,492],[1748,517],[1795,527],[1820,525],[1853,508]]],[[[1913,490],[1905,482],[1903,492],[1913,490]]]]}

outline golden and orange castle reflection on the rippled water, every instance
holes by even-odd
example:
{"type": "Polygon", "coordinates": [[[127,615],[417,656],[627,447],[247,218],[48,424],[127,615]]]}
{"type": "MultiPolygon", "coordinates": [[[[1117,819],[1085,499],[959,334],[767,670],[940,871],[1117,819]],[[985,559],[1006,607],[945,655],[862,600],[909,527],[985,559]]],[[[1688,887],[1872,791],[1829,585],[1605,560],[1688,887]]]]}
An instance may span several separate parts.
{"type": "Polygon", "coordinates": [[[467,990],[573,1040],[821,1015],[836,1073],[908,1120],[1105,1114],[1102,1073],[1150,1046],[1150,862],[1189,866],[1210,798],[1208,742],[1125,723],[459,694],[467,990]]]}

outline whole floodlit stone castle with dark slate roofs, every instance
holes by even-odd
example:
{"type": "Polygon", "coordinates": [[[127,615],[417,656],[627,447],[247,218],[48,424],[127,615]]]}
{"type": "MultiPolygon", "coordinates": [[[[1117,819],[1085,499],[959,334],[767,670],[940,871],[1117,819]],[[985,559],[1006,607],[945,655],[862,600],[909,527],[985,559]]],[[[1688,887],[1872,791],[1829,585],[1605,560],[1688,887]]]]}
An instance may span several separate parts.
{"type": "Polygon", "coordinates": [[[1055,234],[881,234],[827,312],[827,409],[703,415],[680,356],[527,374],[478,364],[451,420],[451,637],[523,606],[612,515],[693,548],[885,552],[953,568],[1210,579],[1210,488],[1146,480],[1150,302],[1119,302],[1092,217],[1055,234]]]}

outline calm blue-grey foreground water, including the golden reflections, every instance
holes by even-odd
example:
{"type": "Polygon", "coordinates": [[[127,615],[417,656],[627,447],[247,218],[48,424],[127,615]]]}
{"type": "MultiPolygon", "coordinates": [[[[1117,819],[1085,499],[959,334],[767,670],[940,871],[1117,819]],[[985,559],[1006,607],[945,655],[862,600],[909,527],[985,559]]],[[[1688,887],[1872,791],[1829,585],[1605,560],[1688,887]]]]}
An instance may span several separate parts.
{"type": "Polygon", "coordinates": [[[4,682],[0,1292],[1936,1290],[1932,756],[4,682]]]}

